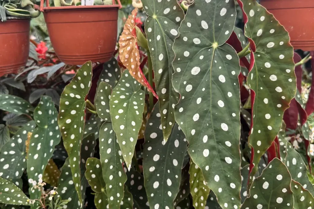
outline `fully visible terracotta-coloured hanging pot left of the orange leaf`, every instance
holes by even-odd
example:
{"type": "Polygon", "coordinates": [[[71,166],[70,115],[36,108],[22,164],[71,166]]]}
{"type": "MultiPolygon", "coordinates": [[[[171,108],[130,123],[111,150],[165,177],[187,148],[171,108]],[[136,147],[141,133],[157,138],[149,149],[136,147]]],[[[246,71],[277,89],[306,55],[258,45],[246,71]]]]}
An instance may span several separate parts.
{"type": "Polygon", "coordinates": [[[49,7],[41,0],[51,44],[62,62],[107,62],[116,50],[118,9],[112,5],[49,7]]]}

